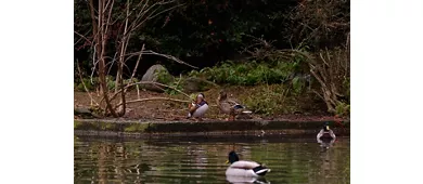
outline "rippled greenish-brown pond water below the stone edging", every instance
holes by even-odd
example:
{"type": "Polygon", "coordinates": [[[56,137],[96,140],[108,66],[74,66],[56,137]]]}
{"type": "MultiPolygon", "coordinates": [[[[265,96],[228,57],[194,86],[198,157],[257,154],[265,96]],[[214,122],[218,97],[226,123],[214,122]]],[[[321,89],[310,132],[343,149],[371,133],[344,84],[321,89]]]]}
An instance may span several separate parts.
{"type": "MultiPolygon", "coordinates": [[[[304,137],[169,137],[101,140],[75,136],[75,183],[235,183],[228,153],[265,163],[256,183],[349,183],[349,137],[330,148],[304,137]],[[229,180],[229,181],[228,181],[229,180]]],[[[241,180],[241,181],[240,181],[241,180]]]]}

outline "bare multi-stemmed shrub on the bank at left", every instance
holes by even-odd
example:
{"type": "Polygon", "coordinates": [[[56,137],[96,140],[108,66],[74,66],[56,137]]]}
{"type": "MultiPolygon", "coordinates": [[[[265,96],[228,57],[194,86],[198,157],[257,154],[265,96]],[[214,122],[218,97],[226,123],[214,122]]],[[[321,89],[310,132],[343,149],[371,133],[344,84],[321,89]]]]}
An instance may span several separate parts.
{"type": "MultiPolygon", "coordinates": [[[[145,44],[142,45],[139,52],[128,53],[128,45],[134,36],[136,30],[142,29],[148,21],[155,18],[157,15],[183,4],[178,3],[176,0],[127,0],[124,3],[125,11],[116,9],[117,5],[121,6],[123,4],[117,3],[115,0],[98,0],[95,2],[94,0],[89,0],[93,35],[91,42],[94,49],[94,68],[92,73],[97,71],[99,75],[100,93],[102,96],[100,105],[102,105],[103,101],[105,103],[104,106],[101,106],[101,109],[104,110],[104,115],[112,115],[113,117],[121,117],[126,113],[126,93],[128,88],[136,83],[132,79],[136,76],[137,68],[143,54],[164,56],[177,63],[196,68],[174,56],[145,50],[145,44]],[[94,3],[98,3],[98,5],[94,5],[94,3]],[[115,30],[116,27],[119,27],[117,34],[115,30]],[[116,34],[116,51],[113,54],[106,52],[107,41],[112,31],[116,34]],[[129,82],[124,86],[124,68],[126,67],[126,63],[133,56],[137,56],[136,66],[130,75],[129,82]],[[114,64],[117,66],[115,91],[111,92],[107,88],[106,76],[110,71],[107,68],[112,67],[114,64]],[[118,102],[114,102],[117,96],[118,102]]],[[[163,87],[170,88],[168,86],[163,87]]],[[[129,103],[143,101],[130,101],[129,103]]]]}

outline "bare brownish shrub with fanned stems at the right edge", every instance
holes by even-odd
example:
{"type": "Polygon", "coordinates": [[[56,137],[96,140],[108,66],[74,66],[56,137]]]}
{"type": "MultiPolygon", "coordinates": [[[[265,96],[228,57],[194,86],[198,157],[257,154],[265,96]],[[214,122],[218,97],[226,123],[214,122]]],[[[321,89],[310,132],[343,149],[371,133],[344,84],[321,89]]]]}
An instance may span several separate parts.
{"type": "Polygon", "coordinates": [[[319,84],[318,90],[313,90],[313,92],[324,101],[329,113],[336,113],[336,107],[343,103],[342,98],[346,97],[346,91],[348,90],[346,88],[349,88],[349,86],[344,83],[349,81],[350,75],[349,34],[344,47],[332,50],[325,49],[317,53],[309,53],[298,49],[278,50],[269,41],[253,38],[255,39],[255,44],[246,47],[243,52],[251,54],[254,58],[279,57],[292,61],[297,55],[303,56],[309,73],[319,84]]]}

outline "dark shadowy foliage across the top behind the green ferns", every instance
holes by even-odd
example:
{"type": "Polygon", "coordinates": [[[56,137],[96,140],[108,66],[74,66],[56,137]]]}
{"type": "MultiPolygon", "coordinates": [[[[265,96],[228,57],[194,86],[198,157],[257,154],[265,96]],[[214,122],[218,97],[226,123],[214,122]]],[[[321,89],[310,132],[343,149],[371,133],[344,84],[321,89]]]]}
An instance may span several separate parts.
{"type": "MultiPolygon", "coordinates": [[[[116,1],[121,5],[115,9],[124,11],[125,2],[116,1]]],[[[136,30],[136,39],[128,45],[131,51],[139,51],[146,43],[149,49],[203,68],[242,58],[247,55],[242,51],[255,47],[254,38],[274,40],[272,44],[278,49],[307,44],[310,51],[317,51],[344,44],[349,32],[349,1],[178,0],[175,3],[183,5],[149,19],[136,30]]],[[[75,0],[75,60],[92,57],[91,23],[87,1],[75,0]]],[[[116,48],[114,36],[121,31],[123,25],[116,23],[113,27],[110,50],[116,48]]],[[[172,74],[190,69],[157,57],[145,57],[140,69],[144,71],[157,61],[172,74]]],[[[84,66],[87,70],[88,65],[84,66]]],[[[129,63],[128,67],[133,66],[129,63]]]]}

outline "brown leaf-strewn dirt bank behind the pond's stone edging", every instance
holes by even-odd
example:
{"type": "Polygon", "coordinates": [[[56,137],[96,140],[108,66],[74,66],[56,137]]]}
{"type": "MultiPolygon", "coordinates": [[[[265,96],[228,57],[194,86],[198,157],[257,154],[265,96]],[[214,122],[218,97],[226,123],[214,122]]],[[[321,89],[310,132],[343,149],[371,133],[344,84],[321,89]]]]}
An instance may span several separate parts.
{"type": "MultiPolygon", "coordinates": [[[[265,87],[229,87],[226,88],[229,94],[239,98],[242,102],[248,98],[254,98],[260,94],[260,89],[265,87]]],[[[266,87],[268,88],[268,87],[266,87]]],[[[223,120],[226,115],[221,115],[218,110],[216,98],[220,89],[211,89],[204,92],[206,100],[211,106],[206,114],[205,120],[223,120]]],[[[100,96],[93,92],[91,93],[94,100],[100,101],[100,96]]],[[[127,94],[127,100],[149,98],[149,97],[172,97],[179,100],[187,100],[183,95],[169,95],[166,93],[156,93],[149,91],[140,91],[138,95],[136,91],[131,91],[127,94]]],[[[260,96],[257,96],[260,97],[260,96]]],[[[262,97],[262,96],[261,96],[262,97]]],[[[279,96],[273,96],[279,97],[279,96]]],[[[283,97],[283,96],[281,96],[283,97]]],[[[272,98],[270,98],[272,101],[272,98]]],[[[260,101],[261,102],[261,101],[260,101]]],[[[266,103],[266,102],[264,102],[266,103]]],[[[74,105],[75,107],[89,107],[90,98],[85,92],[74,92],[74,105]]],[[[343,120],[335,118],[332,115],[325,113],[325,105],[319,100],[313,98],[311,95],[290,96],[284,101],[284,104],[279,105],[280,109],[287,110],[272,110],[266,114],[254,114],[253,120],[279,120],[279,121],[331,121],[343,120]]],[[[133,103],[128,105],[127,113],[120,119],[124,120],[154,120],[154,121],[179,121],[184,120],[188,113],[188,104],[170,102],[170,101],[148,101],[133,103]]],[[[75,117],[81,119],[82,117],[75,117]]]]}

